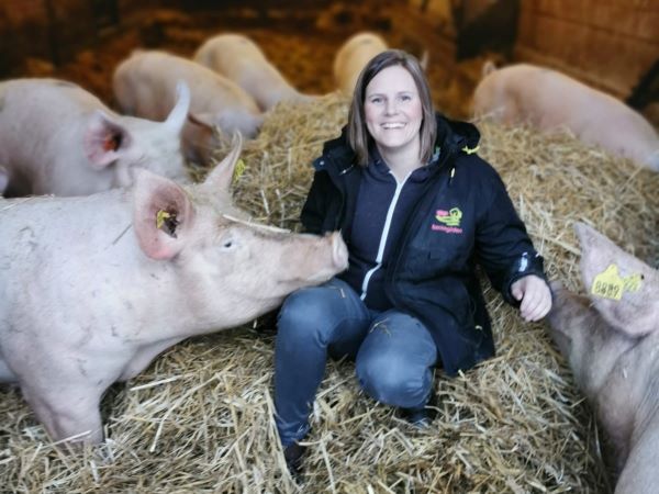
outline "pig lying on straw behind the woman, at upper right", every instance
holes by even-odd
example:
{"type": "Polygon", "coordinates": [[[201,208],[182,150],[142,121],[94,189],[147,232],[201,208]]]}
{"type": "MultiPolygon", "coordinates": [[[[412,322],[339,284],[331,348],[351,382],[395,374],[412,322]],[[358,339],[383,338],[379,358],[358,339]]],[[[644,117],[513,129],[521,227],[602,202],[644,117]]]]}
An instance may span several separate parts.
{"type": "Polygon", "coordinates": [[[659,171],[659,136],[621,100],[548,68],[516,64],[483,66],[472,110],[505,124],[530,124],[540,131],[566,127],[589,145],[659,171]]]}

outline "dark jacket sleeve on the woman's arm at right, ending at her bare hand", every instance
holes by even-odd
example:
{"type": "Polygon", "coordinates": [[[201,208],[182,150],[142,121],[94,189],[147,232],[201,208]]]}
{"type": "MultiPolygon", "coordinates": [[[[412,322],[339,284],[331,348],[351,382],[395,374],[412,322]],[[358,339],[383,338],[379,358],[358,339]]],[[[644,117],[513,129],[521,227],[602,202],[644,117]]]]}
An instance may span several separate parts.
{"type": "Polygon", "coordinates": [[[528,274],[547,282],[544,259],[535,250],[524,223],[505,190],[503,181],[492,170],[485,180],[491,201],[485,201],[477,224],[476,254],[492,285],[511,305],[518,306],[511,285],[528,274]]]}

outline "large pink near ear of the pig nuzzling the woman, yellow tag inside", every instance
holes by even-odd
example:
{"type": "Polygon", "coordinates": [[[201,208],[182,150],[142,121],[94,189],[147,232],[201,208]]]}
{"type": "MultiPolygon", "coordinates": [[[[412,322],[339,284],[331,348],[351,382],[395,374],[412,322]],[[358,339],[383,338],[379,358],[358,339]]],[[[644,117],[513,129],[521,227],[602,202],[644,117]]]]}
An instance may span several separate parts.
{"type": "Polygon", "coordinates": [[[133,227],[139,247],[152,259],[171,259],[186,243],[194,209],[188,194],[169,179],[135,171],[133,227]]]}

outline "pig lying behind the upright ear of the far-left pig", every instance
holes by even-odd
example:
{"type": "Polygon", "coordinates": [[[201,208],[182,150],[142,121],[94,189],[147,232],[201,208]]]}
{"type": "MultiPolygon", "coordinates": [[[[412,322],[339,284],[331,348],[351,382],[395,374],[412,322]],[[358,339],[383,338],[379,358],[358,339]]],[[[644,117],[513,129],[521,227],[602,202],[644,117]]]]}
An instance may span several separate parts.
{"type": "Polygon", "coordinates": [[[126,113],[160,119],[171,104],[177,80],[190,87],[189,122],[183,128],[186,155],[209,162],[216,147],[213,126],[254,137],[263,124],[254,98],[232,80],[201,64],[158,50],[136,50],[114,71],[114,96],[126,113]]]}

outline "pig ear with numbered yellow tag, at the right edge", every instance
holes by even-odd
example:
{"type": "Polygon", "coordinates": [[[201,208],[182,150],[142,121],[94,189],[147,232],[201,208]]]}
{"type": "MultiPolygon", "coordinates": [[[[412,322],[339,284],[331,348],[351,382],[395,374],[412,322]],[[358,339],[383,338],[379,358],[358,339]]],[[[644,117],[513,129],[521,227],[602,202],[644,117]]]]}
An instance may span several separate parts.
{"type": "Polygon", "coordinates": [[[574,231],[583,283],[602,317],[630,337],[658,329],[657,271],[583,223],[574,231]]]}

